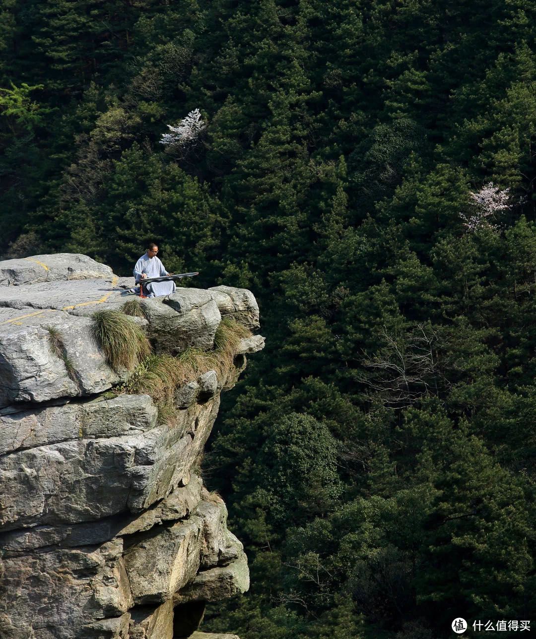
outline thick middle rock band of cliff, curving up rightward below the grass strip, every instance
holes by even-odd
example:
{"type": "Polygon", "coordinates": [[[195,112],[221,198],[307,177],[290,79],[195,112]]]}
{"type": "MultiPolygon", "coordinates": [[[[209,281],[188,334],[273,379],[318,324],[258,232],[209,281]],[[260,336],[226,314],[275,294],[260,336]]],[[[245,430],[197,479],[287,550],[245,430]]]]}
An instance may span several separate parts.
{"type": "Polygon", "coordinates": [[[172,427],[155,425],[146,408],[148,420],[139,433],[86,438],[79,426],[82,436],[75,439],[1,456],[3,530],[100,520],[167,497],[203,450],[218,401],[181,413],[172,427]],[[188,432],[192,424],[197,424],[194,433],[188,432]]]}

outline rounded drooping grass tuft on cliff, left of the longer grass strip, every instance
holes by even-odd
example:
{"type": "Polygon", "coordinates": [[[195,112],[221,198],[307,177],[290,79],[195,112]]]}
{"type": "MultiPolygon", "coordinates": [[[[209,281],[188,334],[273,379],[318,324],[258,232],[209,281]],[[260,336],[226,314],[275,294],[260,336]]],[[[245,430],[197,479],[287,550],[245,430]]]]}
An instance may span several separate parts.
{"type": "Polygon", "coordinates": [[[151,346],[141,328],[121,311],[93,313],[91,327],[96,343],[104,351],[114,369],[125,367],[132,371],[136,364],[148,357],[151,346]]]}

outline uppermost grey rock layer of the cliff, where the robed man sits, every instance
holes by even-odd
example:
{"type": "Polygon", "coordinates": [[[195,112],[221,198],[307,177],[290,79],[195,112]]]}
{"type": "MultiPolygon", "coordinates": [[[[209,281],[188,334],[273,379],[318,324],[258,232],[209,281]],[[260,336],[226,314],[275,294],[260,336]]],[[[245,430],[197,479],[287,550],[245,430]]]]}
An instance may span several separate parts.
{"type": "MultiPolygon", "coordinates": [[[[37,257],[47,263],[54,258],[37,257]]],[[[26,259],[0,262],[0,272],[3,264],[20,261],[26,265],[26,259]]],[[[108,366],[91,336],[91,316],[99,309],[121,309],[130,295],[111,271],[105,275],[0,285],[0,408],[24,401],[87,397],[118,383],[121,371],[108,366]],[[59,335],[60,352],[51,347],[51,332],[59,335]]],[[[208,291],[178,288],[169,298],[142,300],[142,311],[148,320],[132,321],[146,326],[157,352],[172,355],[188,346],[211,348],[222,315],[250,328],[258,327],[259,321],[252,293],[229,286],[208,291]]],[[[262,348],[262,339],[256,335],[253,342],[245,341],[243,352],[262,348]]]]}

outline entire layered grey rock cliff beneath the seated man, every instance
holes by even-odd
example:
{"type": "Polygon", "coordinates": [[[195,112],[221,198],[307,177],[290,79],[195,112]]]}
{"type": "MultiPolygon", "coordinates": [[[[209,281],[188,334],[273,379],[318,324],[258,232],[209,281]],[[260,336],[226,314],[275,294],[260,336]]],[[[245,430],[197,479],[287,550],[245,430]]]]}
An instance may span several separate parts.
{"type": "MultiPolygon", "coordinates": [[[[199,465],[220,392],[263,338],[241,338],[230,372],[183,384],[165,420],[151,396],[124,392],[132,371],[92,337],[93,313],[121,310],[133,284],[81,255],[0,262],[1,638],[185,638],[206,602],[249,587],[199,465]]],[[[210,350],[222,317],[259,326],[245,289],[178,289],[142,307],[130,321],[155,353],[210,350]]]]}

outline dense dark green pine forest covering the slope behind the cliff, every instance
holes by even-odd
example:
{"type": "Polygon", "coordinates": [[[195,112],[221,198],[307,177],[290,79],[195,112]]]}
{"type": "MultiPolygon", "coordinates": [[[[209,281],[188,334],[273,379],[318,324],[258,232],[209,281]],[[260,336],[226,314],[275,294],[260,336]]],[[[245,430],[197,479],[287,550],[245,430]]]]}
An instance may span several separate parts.
{"type": "Polygon", "coordinates": [[[536,5],[0,7],[3,258],[155,240],[259,300],[203,461],[252,585],[203,629],[534,619],[536,5]]]}

